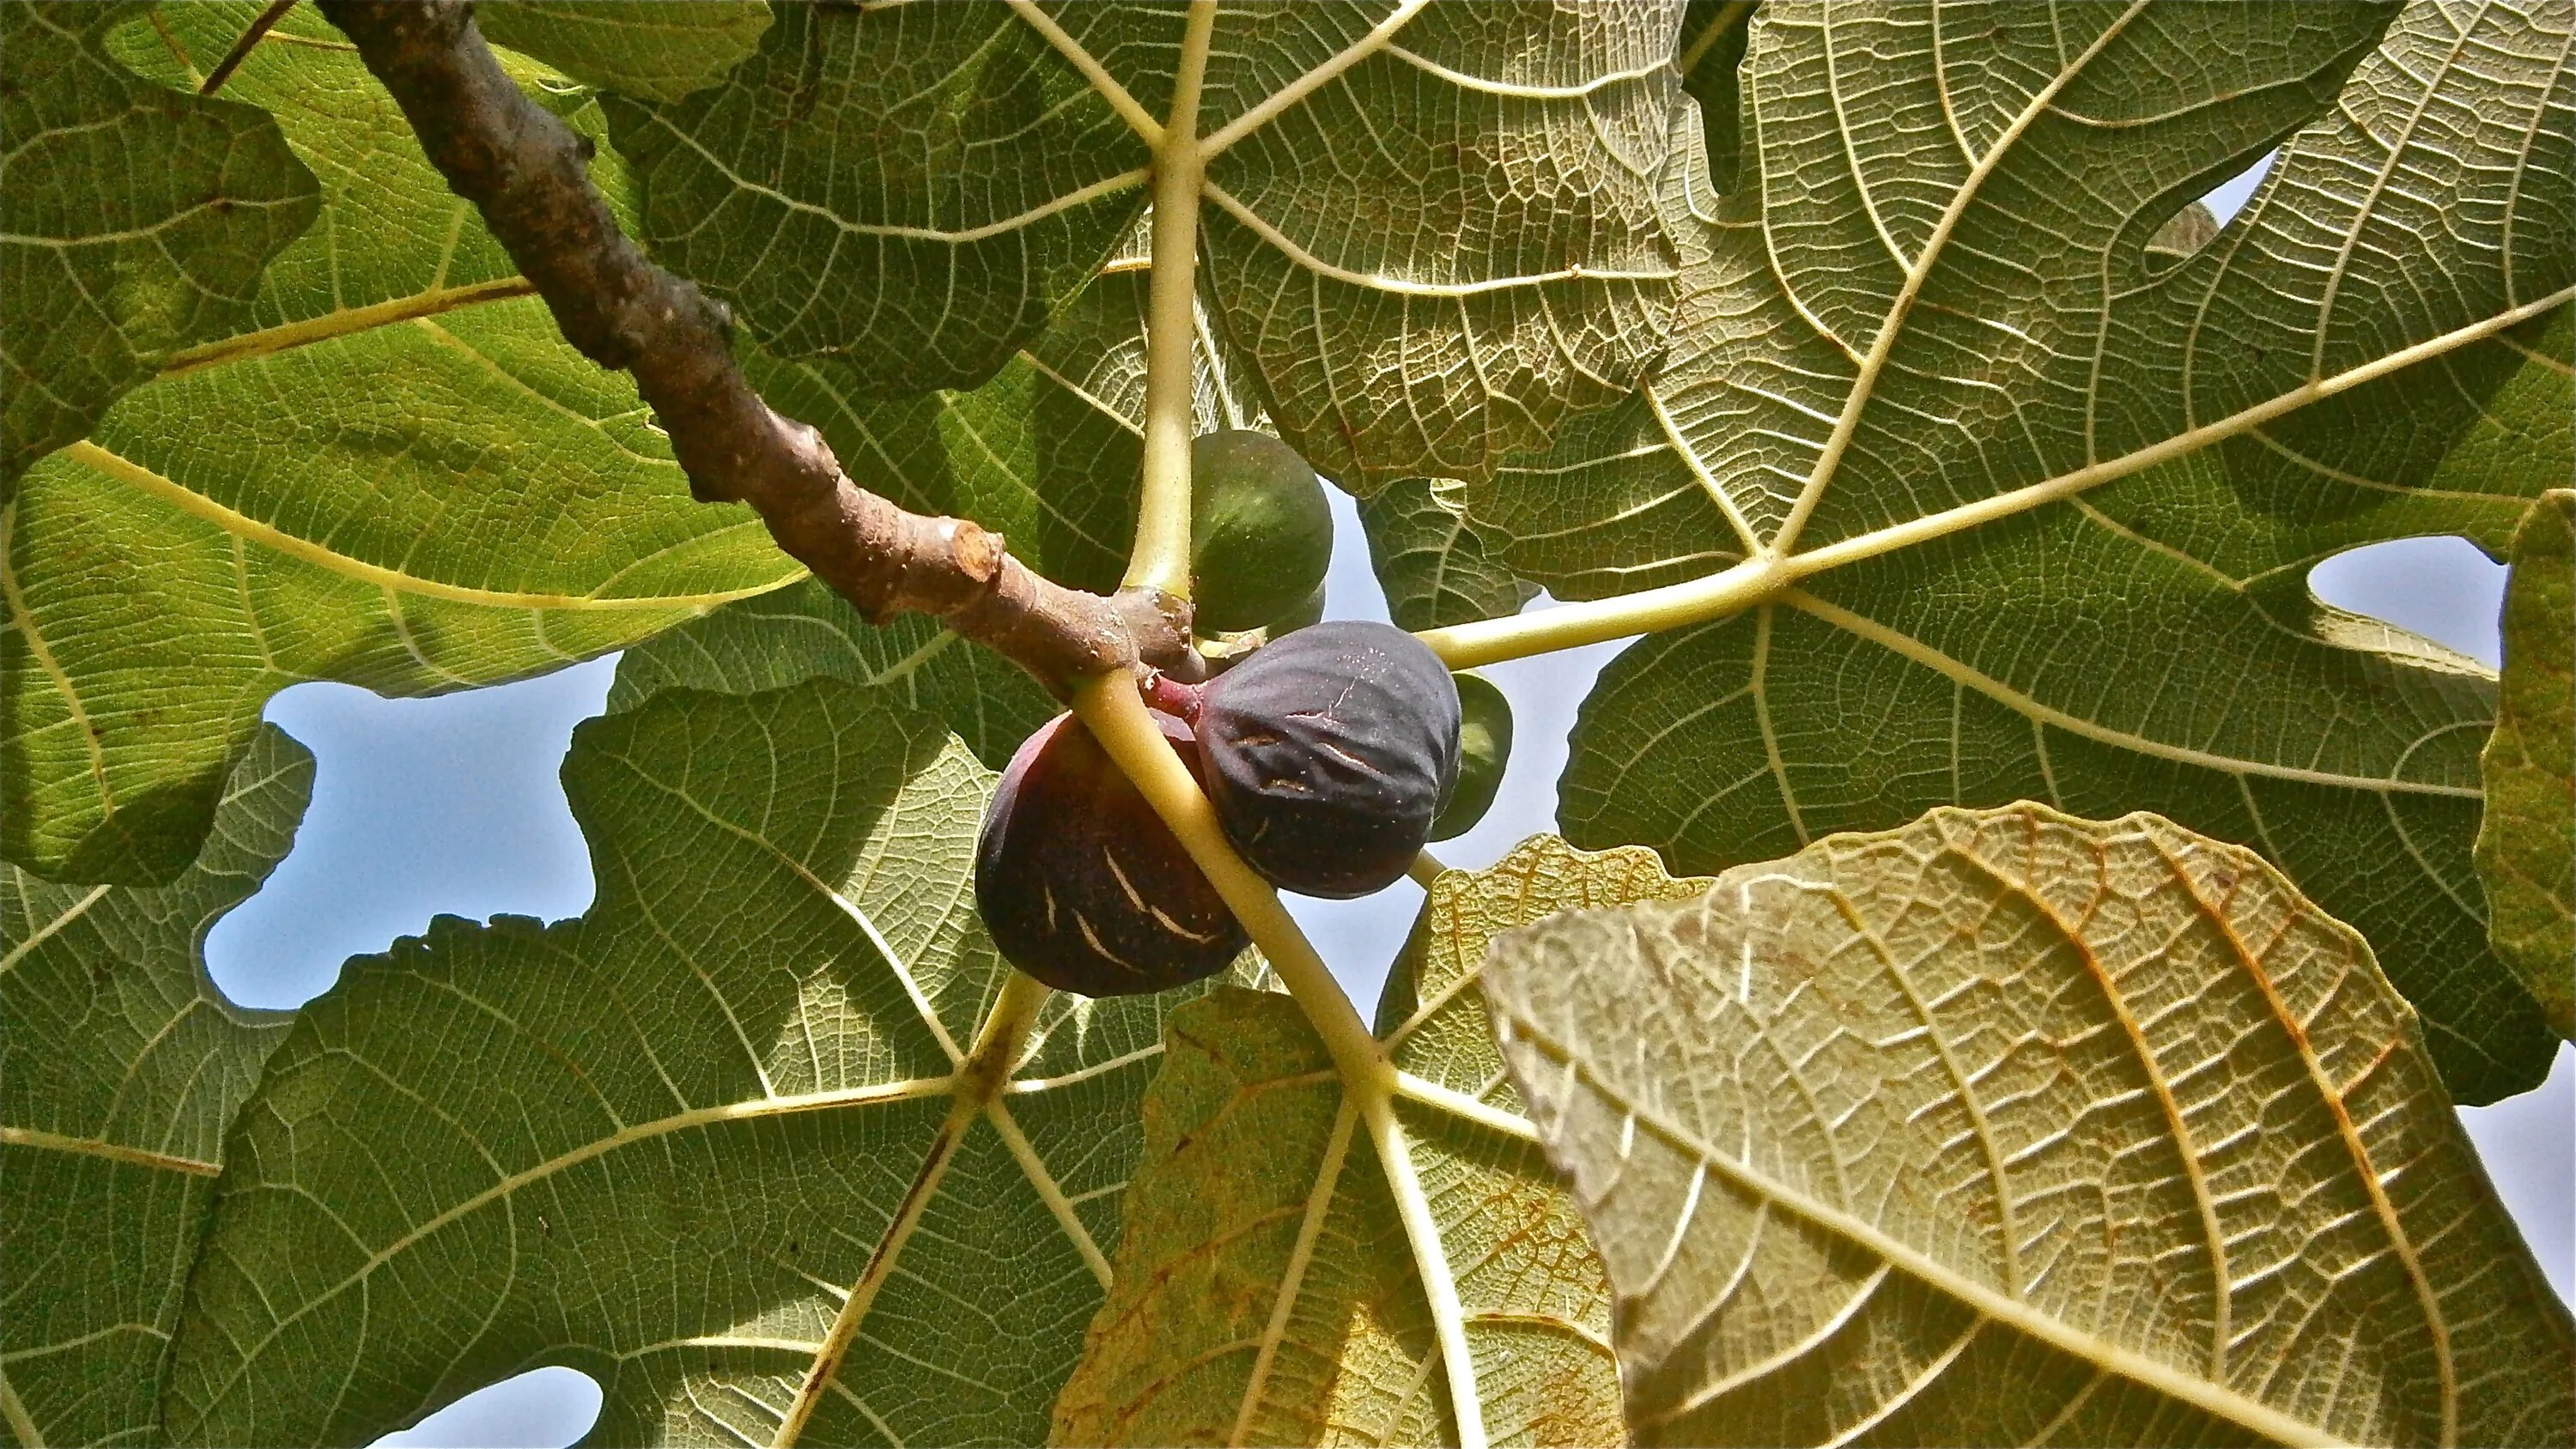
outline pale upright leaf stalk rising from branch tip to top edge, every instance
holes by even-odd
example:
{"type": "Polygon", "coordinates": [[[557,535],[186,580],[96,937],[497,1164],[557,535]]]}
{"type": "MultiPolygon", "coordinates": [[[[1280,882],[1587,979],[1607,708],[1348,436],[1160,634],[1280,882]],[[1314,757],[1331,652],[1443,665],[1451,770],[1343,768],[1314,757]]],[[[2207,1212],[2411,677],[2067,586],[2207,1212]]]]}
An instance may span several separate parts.
{"type": "Polygon", "coordinates": [[[1144,471],[1123,587],[1190,597],[1190,432],[1198,340],[1198,93],[1216,0],[1193,0],[1180,36],[1172,118],[1154,147],[1154,273],[1144,311],[1144,471]]]}

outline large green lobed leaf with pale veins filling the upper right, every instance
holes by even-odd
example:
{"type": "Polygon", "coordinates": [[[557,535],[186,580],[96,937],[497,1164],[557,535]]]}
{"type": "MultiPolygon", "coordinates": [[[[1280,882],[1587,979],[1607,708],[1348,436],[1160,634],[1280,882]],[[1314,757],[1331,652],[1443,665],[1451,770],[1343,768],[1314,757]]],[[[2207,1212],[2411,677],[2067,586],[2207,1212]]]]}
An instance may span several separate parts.
{"type": "Polygon", "coordinates": [[[1633,427],[1468,494],[1558,595],[1790,556],[1765,607],[1605,672],[1566,834],[1713,870],[1937,803],[2156,808],[2362,927],[2460,1099],[2540,1081],[2468,854],[2494,687],[2306,571],[2496,548],[2576,468],[2566,28],[1765,8],[1749,178],[1633,427]],[[2215,242],[2148,257],[2293,129],[2215,242]]]}

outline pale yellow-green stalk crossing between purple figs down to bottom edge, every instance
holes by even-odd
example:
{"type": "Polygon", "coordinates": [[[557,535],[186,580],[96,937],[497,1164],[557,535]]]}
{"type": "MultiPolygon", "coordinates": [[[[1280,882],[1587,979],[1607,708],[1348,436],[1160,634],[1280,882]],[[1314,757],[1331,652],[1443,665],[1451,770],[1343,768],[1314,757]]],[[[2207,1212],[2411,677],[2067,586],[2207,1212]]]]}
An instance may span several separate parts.
{"type": "Polygon", "coordinates": [[[1386,1060],[1386,1048],[1360,1022],[1342,983],[1324,968],[1314,942],[1298,929],[1288,906],[1267,880],[1244,865],[1216,824],[1216,806],[1190,780],[1190,770],[1164,744],[1162,728],[1144,708],[1136,679],[1128,674],[1100,674],[1074,690],[1074,713],[1092,739],[1110,752],[1118,770],[1126,770],[1136,790],[1154,806],[1172,834],[1180,836],[1190,860],[1208,872],[1226,909],[1262,947],[1270,970],[1288,986],[1288,996],[1306,1011],[1314,1035],[1324,1040],[1342,1091],[1360,1109],[1368,1140],[1386,1168],[1388,1194],[1404,1220],[1404,1238],[1414,1251],[1414,1274],[1422,1279],[1422,1297],[1432,1307],[1432,1331],[1440,1341],[1440,1367],[1448,1374],[1450,1403],[1458,1416],[1461,1449],[1484,1449],[1481,1390],[1476,1387],[1476,1361],[1466,1351],[1466,1310],[1458,1302],[1458,1282],[1450,1277],[1448,1253],[1440,1246],[1440,1223],[1432,1220],[1430,1197],[1414,1171],[1412,1145],[1396,1120],[1396,1066],[1386,1060]]]}

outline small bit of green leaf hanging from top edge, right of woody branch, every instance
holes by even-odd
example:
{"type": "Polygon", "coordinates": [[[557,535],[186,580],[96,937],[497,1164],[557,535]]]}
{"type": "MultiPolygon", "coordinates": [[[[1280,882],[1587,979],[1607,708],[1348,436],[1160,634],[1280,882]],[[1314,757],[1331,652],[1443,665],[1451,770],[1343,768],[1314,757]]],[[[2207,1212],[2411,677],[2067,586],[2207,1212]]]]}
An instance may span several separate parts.
{"type": "Polygon", "coordinates": [[[582,85],[677,100],[724,80],[770,28],[768,0],[484,0],[474,23],[582,85]]]}

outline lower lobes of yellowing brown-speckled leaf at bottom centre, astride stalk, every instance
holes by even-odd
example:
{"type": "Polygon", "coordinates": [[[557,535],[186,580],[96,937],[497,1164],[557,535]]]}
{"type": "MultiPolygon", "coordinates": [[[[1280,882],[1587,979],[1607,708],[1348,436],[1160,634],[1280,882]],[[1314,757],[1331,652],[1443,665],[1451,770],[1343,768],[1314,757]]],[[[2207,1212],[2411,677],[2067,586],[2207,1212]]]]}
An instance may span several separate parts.
{"type": "MultiPolygon", "coordinates": [[[[1455,1444],[1435,1302],[1324,1042],[1285,996],[1172,1014],[1110,1300],[1056,1444],[1455,1444]]],[[[1535,1150],[1406,1112],[1461,1269],[1486,1434],[1620,1436],[1600,1264],[1535,1150]]]]}

